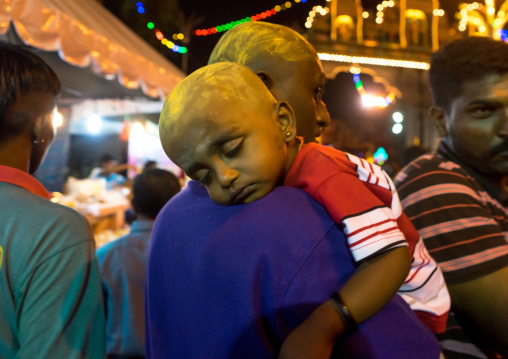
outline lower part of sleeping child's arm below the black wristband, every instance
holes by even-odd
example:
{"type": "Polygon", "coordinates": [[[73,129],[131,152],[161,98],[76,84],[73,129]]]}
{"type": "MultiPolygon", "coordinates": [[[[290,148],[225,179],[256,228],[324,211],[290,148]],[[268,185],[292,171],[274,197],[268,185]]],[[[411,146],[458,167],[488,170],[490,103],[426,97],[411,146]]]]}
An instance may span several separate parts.
{"type": "Polygon", "coordinates": [[[328,359],[342,331],[342,321],[333,304],[327,301],[289,334],[279,359],[328,359]]]}

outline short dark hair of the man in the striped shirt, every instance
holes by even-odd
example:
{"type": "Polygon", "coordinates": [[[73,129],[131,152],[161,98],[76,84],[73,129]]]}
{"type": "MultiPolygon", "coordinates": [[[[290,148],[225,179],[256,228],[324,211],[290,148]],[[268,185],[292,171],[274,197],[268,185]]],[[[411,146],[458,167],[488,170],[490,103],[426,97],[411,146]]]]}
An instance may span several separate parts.
{"type": "Polygon", "coordinates": [[[465,82],[508,72],[508,44],[488,37],[456,40],[432,55],[429,83],[434,104],[446,111],[465,82]]]}

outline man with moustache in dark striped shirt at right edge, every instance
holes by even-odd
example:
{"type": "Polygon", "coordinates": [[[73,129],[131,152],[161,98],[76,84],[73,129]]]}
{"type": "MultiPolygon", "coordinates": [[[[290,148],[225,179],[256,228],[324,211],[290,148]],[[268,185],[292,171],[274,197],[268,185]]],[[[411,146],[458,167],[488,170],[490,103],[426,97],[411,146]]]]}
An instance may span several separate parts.
{"type": "Polygon", "coordinates": [[[507,59],[507,44],[484,37],[433,55],[430,115],[441,142],[395,179],[449,287],[447,358],[508,357],[507,59]]]}

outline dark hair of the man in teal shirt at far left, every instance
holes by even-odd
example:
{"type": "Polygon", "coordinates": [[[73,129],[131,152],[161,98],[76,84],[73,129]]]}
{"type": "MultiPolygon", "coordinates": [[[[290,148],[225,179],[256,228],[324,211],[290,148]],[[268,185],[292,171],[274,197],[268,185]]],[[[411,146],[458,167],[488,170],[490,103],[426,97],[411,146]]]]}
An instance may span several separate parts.
{"type": "Polygon", "coordinates": [[[18,96],[30,92],[60,93],[60,80],[39,56],[28,49],[0,41],[0,139],[16,136],[28,119],[7,118],[9,107],[18,96]]]}

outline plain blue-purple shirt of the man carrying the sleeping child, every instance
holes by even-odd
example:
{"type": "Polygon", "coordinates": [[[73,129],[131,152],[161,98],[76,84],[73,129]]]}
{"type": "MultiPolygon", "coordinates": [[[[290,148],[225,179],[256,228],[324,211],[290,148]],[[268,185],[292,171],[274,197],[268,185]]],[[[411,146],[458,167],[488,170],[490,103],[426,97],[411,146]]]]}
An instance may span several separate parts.
{"type": "MultiPolygon", "coordinates": [[[[355,271],[344,233],[303,191],[219,206],[196,181],[157,216],[147,264],[147,357],[275,358],[355,271]]],[[[339,358],[437,359],[432,332],[395,296],[343,338],[339,358]]]]}

